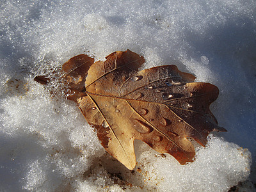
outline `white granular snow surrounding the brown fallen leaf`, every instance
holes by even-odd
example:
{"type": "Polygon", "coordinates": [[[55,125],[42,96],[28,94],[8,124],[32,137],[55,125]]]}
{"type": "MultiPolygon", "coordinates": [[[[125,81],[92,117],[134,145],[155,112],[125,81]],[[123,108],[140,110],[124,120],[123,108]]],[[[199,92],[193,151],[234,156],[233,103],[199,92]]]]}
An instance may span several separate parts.
{"type": "Polygon", "coordinates": [[[0,18],[0,191],[228,191],[245,180],[237,188],[254,190],[255,1],[3,0],[0,18]],[[195,162],[137,141],[131,172],[58,84],[51,97],[33,81],[77,54],[126,49],[143,68],[175,64],[220,88],[212,111],[228,132],[196,148],[195,162]]]}

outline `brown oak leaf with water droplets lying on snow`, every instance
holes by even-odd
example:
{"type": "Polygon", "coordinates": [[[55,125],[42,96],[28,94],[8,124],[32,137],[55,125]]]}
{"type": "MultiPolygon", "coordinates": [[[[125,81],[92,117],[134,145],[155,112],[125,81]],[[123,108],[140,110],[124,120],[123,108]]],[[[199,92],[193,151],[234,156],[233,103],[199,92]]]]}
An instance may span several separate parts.
{"type": "Polygon", "coordinates": [[[134,140],[171,154],[180,164],[191,162],[191,139],[205,146],[209,132],[226,131],[209,109],[219,90],[195,83],[195,76],[175,65],[138,71],[144,62],[129,50],[95,63],[86,55],[76,56],[63,65],[67,98],[95,127],[107,152],[130,170],[136,165],[134,140]]]}

